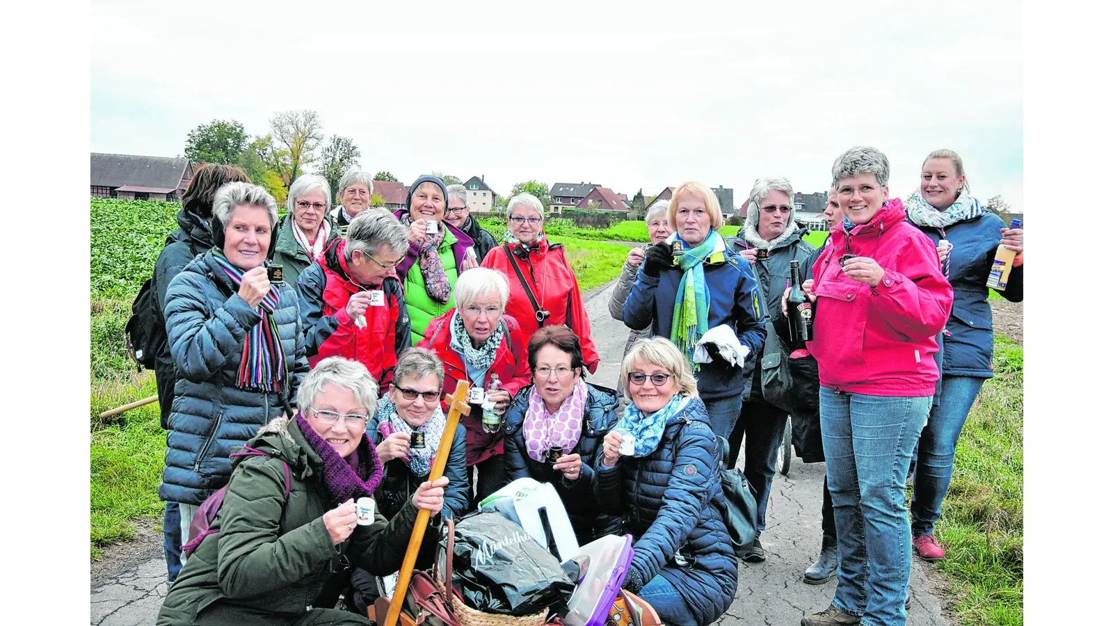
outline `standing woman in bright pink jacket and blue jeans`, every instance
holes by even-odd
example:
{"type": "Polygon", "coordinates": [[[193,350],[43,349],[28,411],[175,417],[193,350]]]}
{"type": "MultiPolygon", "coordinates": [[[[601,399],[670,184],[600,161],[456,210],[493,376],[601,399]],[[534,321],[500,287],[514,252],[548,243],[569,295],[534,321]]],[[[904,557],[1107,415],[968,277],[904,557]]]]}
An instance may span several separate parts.
{"type": "Polygon", "coordinates": [[[889,198],[884,154],[855,146],[831,178],[846,217],[812,266],[808,349],[819,364],[841,563],[830,607],[801,625],[900,626],[912,570],[905,477],[932,408],[935,335],[954,292],[935,245],[889,198]]]}

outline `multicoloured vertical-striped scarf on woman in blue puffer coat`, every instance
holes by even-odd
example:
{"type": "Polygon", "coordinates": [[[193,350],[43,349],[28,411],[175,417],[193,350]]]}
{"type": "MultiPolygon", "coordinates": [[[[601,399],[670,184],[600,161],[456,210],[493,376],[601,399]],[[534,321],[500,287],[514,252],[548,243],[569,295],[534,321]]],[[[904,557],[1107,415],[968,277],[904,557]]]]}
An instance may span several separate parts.
{"type": "MultiPolygon", "coordinates": [[[[318,235],[319,236],[319,235],[318,235]]],[[[239,287],[244,282],[244,271],[228,261],[220,251],[214,251],[213,258],[224,270],[232,282],[239,287]]],[[[278,287],[270,285],[270,291],[263,296],[256,313],[262,320],[252,326],[244,340],[244,355],[236,369],[236,387],[239,389],[262,389],[264,391],[282,392],[286,380],[286,358],[282,350],[282,336],[275,324],[274,312],[278,307],[278,287]]]]}

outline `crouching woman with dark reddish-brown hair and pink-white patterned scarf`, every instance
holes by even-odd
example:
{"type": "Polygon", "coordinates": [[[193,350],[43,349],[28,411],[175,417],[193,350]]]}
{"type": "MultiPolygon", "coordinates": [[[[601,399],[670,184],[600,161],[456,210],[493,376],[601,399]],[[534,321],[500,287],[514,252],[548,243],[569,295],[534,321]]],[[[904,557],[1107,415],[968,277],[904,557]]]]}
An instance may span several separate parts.
{"type": "Polygon", "coordinates": [[[618,395],[584,382],[580,338],[563,324],[533,333],[529,361],[535,383],[518,392],[503,426],[506,481],[552,483],[581,546],[618,534],[619,518],[600,512],[591,497],[600,443],[618,421],[618,395]],[[546,457],[552,447],[560,448],[555,461],[546,457]]]}

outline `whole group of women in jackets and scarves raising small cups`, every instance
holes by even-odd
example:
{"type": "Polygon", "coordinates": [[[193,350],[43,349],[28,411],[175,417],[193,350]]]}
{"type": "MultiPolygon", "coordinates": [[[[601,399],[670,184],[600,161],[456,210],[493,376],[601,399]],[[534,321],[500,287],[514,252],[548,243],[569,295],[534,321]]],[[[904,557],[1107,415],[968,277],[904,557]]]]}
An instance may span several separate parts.
{"type": "MultiPolygon", "coordinates": [[[[775,442],[798,410],[818,417],[831,505],[805,578],[838,570],[831,606],[802,624],[904,623],[913,546],[943,557],[933,525],[962,423],[992,375],[988,266],[1002,241],[1023,250],[1023,232],[969,196],[957,155],[933,153],[906,203],[888,195],[885,155],[840,155],[835,227],[819,250],[801,239],[782,178],[758,180],[733,238],[700,183],[652,205],[650,244],[630,252],[610,303],[631,329],[620,392],[585,380],[600,362],[590,321],[533,196],[510,199],[498,245],[435,176],[391,214],[370,206],[364,172],[345,174],[335,209],[327,182],[306,175],[280,222],[243,178],[223,166],[195,176],[186,197],[199,199],[184,203],[156,274],[173,365],[160,392],[166,379],[174,389],[159,488],[174,584],[160,624],[366,624],[333,609],[337,579],[365,615],[417,508],[434,522],[459,517],[531,477],[556,488],[581,544],[633,534],[624,586],[669,624],[706,626],[738,577],[720,447],[729,440],[733,463],[745,444],[760,532],[775,442]],[[815,312],[814,341],[789,346],[806,349],[790,371],[810,379],[791,411],[765,397],[755,368],[770,343],[789,343],[789,261],[801,261],[815,312]],[[442,398],[461,380],[486,390],[500,427],[476,401],[445,432],[442,398]],[[444,437],[445,473],[430,482],[444,437]],[[627,438],[632,454],[620,452],[627,438]],[[238,446],[252,453],[233,454],[238,446]],[[226,485],[219,531],[180,555],[193,512],[226,485]],[[375,524],[355,524],[359,497],[376,500],[375,524]]],[[[1023,255],[1015,264],[1009,300],[1022,295],[1023,255]]],[[[760,540],[743,559],[765,560],[760,540]]]]}

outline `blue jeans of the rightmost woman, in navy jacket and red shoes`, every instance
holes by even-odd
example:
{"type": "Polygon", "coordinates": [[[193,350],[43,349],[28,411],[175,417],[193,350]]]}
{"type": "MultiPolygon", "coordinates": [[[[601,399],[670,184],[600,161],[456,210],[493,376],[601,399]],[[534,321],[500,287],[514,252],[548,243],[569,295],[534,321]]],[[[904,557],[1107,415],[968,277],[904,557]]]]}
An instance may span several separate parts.
{"type": "Polygon", "coordinates": [[[912,534],[934,535],[955,469],[955,447],[985,379],[943,376],[943,397],[919,436],[912,498],[912,534]]]}

